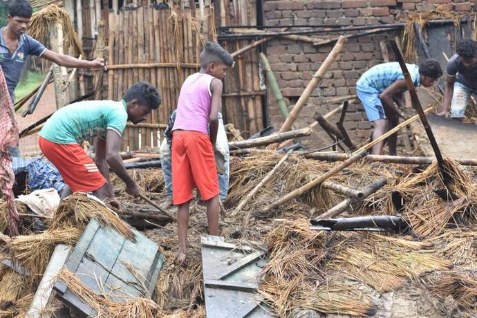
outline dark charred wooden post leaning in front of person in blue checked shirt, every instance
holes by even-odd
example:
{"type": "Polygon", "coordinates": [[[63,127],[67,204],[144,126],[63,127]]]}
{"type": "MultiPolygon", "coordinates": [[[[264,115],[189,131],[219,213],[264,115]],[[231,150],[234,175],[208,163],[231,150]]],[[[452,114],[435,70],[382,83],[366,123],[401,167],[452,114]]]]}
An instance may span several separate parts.
{"type": "Polygon", "coordinates": [[[431,142],[432,150],[434,151],[434,154],[436,155],[436,159],[438,162],[440,173],[442,174],[442,178],[444,179],[444,182],[447,183],[447,180],[449,180],[449,174],[447,174],[447,171],[445,170],[444,158],[442,158],[442,153],[440,153],[440,149],[436,142],[436,138],[434,138],[434,135],[432,133],[431,125],[427,121],[426,115],[424,114],[424,110],[422,110],[422,106],[419,101],[418,94],[415,93],[415,88],[414,88],[413,80],[411,79],[411,74],[409,74],[409,71],[406,66],[406,62],[404,62],[404,57],[402,57],[396,42],[391,41],[390,44],[391,44],[391,48],[393,48],[394,55],[397,59],[397,62],[399,62],[399,65],[401,66],[404,79],[406,79],[407,89],[409,90],[409,95],[411,95],[412,105],[415,111],[418,112],[419,118],[422,122],[422,125],[424,126],[424,130],[426,131],[427,138],[429,138],[429,142],[431,142]]]}

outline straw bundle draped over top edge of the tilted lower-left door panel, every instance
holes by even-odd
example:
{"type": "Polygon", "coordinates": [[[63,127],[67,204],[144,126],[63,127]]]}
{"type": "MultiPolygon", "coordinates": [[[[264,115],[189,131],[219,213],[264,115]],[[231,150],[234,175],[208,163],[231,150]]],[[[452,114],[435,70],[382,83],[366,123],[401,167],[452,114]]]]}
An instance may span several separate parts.
{"type": "Polygon", "coordinates": [[[58,206],[51,227],[55,229],[77,227],[83,232],[91,218],[96,218],[101,225],[109,225],[124,237],[134,240],[131,227],[122,221],[118,214],[97,200],[79,193],[72,194],[58,206]]]}

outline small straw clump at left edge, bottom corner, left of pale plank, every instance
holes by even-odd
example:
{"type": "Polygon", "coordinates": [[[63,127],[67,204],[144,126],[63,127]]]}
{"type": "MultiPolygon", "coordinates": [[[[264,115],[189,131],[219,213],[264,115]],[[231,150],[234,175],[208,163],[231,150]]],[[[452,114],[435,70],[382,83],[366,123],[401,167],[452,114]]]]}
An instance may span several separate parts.
{"type": "Polygon", "coordinates": [[[25,277],[14,270],[8,270],[0,280],[0,310],[15,305],[27,290],[25,277]]]}

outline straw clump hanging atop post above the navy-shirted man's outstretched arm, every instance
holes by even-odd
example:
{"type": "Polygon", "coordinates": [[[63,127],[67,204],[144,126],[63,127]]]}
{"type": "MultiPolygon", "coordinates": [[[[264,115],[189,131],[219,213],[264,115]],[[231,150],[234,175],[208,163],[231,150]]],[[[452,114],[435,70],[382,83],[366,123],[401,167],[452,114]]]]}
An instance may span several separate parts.
{"type": "Polygon", "coordinates": [[[43,44],[50,43],[50,30],[52,27],[56,28],[56,23],[61,24],[63,28],[64,52],[68,52],[68,48],[73,46],[84,55],[68,12],[55,4],[33,14],[28,27],[28,34],[43,44]]]}

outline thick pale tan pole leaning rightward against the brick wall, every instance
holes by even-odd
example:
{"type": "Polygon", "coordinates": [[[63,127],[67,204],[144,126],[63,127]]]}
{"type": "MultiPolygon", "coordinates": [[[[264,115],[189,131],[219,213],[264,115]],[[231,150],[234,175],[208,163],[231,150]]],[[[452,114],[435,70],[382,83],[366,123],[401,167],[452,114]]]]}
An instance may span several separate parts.
{"type": "Polygon", "coordinates": [[[328,68],[330,68],[331,64],[335,62],[335,59],[344,47],[344,44],[346,44],[346,38],[339,37],[337,43],[335,44],[335,47],[333,47],[333,50],[331,50],[330,54],[328,54],[323,64],[321,64],[317,73],[313,75],[312,80],[310,81],[310,83],[308,83],[308,86],[306,86],[305,91],[303,91],[303,93],[301,94],[297,104],[293,106],[292,111],[290,111],[290,113],[288,114],[288,118],[281,126],[281,133],[283,133],[284,131],[288,131],[290,130],[290,128],[292,128],[292,125],[294,121],[297,120],[301,109],[303,108],[303,106],[305,106],[306,102],[308,102],[308,98],[310,97],[312,92],[315,91],[315,88],[317,88],[317,86],[323,80],[323,77],[326,71],[328,71],[328,68]]]}

